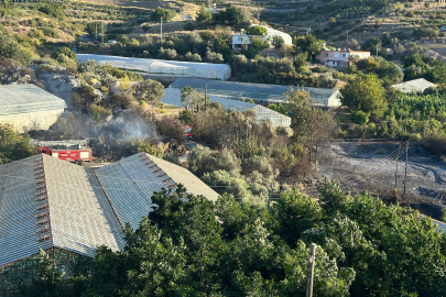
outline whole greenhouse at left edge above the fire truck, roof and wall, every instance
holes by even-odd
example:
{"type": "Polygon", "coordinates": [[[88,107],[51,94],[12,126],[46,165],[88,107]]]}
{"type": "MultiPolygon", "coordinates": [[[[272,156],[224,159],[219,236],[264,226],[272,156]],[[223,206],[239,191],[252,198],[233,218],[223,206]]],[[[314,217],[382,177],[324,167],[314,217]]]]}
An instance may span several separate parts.
{"type": "Polygon", "coordinates": [[[34,85],[0,86],[0,124],[18,133],[47,130],[65,109],[64,100],[34,85]]]}

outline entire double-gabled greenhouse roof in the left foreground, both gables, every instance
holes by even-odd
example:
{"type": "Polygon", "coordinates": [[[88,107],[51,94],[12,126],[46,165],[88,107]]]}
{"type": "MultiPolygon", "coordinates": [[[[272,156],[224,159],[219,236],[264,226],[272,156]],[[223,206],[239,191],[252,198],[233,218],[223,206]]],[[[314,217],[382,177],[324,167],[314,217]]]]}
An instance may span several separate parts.
{"type": "Polygon", "coordinates": [[[218,198],[187,169],[144,153],[96,170],[44,154],[0,165],[0,267],[39,249],[122,250],[123,223],[137,228],[152,194],[177,184],[218,198]]]}

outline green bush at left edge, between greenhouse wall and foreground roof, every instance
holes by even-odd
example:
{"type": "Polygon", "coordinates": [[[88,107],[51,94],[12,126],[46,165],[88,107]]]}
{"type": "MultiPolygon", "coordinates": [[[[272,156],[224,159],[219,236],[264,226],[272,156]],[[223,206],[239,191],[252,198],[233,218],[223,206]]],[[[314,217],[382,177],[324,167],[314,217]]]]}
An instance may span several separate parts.
{"type": "Polygon", "coordinates": [[[32,156],[34,148],[28,135],[19,135],[10,125],[0,125],[0,164],[32,156]]]}

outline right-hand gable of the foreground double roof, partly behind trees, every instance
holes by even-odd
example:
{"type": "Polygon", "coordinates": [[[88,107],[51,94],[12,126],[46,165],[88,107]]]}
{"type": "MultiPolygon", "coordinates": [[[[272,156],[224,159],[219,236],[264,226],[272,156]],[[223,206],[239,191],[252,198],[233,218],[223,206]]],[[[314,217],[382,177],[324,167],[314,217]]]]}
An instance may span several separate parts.
{"type": "Polygon", "coordinates": [[[162,188],[176,188],[183,184],[186,190],[216,200],[218,194],[189,170],[152,155],[139,153],[96,169],[119,220],[138,228],[142,217],[152,211],[151,196],[162,188]],[[138,207],[135,207],[138,206],[138,207]]]}

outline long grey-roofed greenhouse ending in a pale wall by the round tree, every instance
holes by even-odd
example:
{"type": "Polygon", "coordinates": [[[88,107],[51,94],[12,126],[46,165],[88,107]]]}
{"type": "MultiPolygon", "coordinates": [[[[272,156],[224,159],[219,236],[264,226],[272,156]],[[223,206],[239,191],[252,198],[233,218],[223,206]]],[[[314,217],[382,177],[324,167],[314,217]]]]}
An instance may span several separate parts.
{"type": "MultiPolygon", "coordinates": [[[[219,81],[209,79],[178,78],[170,87],[183,89],[189,86],[193,89],[204,91],[207,86],[207,94],[240,100],[241,98],[253,99],[257,102],[286,102],[284,94],[290,86],[264,85],[238,81],[219,81]]],[[[315,100],[315,106],[331,108],[339,107],[339,90],[308,87],[292,87],[309,92],[315,100]]]]}

